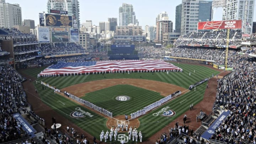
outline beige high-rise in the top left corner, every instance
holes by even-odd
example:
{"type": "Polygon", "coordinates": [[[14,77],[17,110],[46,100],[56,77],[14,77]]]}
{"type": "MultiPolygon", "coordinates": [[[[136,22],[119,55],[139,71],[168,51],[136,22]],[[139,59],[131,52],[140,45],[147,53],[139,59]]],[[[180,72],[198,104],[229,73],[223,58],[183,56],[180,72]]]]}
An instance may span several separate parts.
{"type": "Polygon", "coordinates": [[[5,3],[5,0],[0,1],[0,27],[10,28],[15,25],[22,25],[21,7],[19,4],[5,3]]]}

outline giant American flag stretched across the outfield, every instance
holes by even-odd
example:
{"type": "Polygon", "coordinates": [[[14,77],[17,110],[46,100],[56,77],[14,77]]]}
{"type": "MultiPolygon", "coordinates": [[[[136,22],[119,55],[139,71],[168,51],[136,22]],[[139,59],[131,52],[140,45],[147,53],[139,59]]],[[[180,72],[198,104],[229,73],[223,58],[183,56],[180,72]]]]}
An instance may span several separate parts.
{"type": "Polygon", "coordinates": [[[120,60],[58,63],[43,70],[40,75],[52,74],[89,74],[89,73],[122,73],[182,71],[181,68],[163,60],[120,60]]]}

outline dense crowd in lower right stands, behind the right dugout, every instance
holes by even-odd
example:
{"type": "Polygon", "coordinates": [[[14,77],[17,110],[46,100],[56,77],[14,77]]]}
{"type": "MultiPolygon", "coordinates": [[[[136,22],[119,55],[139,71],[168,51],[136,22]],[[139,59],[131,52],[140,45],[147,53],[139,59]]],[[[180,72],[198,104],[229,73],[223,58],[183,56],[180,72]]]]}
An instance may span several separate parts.
{"type": "Polygon", "coordinates": [[[233,66],[233,74],[218,80],[218,98],[214,106],[223,105],[230,114],[211,139],[227,143],[256,143],[255,58],[239,56],[233,66]]]}

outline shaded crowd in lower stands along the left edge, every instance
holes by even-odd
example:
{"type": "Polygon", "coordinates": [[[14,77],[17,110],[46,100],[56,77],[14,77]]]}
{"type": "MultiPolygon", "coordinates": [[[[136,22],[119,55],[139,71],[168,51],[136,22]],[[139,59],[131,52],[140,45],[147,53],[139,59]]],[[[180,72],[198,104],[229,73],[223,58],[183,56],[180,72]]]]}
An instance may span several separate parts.
{"type": "Polygon", "coordinates": [[[27,106],[21,84],[23,79],[10,65],[0,65],[0,143],[28,136],[21,123],[12,117],[27,106]]]}

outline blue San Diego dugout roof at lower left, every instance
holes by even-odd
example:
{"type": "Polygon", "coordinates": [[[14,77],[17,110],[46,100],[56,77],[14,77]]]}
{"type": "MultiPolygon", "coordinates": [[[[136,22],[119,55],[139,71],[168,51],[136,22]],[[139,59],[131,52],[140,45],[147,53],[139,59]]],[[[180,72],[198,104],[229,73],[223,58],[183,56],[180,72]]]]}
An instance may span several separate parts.
{"type": "Polygon", "coordinates": [[[24,119],[20,113],[15,113],[13,114],[13,117],[15,119],[17,119],[21,125],[22,125],[22,129],[25,130],[25,132],[28,133],[28,135],[33,138],[35,137],[36,135],[34,134],[36,132],[36,130],[26,121],[26,119],[24,119]]]}

